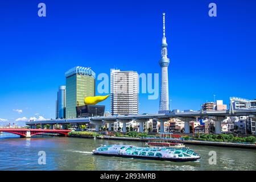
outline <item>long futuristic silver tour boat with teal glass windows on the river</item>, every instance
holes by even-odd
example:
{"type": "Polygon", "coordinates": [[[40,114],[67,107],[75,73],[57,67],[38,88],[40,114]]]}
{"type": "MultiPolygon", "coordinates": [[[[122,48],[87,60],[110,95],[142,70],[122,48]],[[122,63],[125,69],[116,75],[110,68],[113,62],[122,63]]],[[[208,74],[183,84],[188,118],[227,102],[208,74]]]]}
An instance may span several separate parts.
{"type": "Polygon", "coordinates": [[[173,162],[188,162],[200,159],[198,154],[188,148],[148,148],[116,144],[98,147],[96,150],[93,150],[92,154],[173,162]]]}

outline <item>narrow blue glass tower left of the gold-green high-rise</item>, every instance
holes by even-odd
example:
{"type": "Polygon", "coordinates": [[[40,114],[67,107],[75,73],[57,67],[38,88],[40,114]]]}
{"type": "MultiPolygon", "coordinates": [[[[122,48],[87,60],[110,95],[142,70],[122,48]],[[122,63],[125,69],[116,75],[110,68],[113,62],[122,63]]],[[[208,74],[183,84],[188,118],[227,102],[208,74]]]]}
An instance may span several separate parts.
{"type": "Polygon", "coordinates": [[[65,118],[65,108],[66,108],[66,86],[60,86],[57,92],[56,101],[56,118],[65,118]]]}

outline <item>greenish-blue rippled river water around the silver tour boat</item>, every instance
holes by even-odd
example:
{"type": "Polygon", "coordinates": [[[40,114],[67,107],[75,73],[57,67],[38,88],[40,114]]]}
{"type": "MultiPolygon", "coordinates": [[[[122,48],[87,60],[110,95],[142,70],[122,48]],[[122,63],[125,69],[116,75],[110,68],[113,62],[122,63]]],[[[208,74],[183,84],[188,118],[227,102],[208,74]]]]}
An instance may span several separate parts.
{"type": "Polygon", "coordinates": [[[186,145],[201,159],[177,163],[92,155],[92,150],[101,144],[144,146],[144,142],[69,137],[26,139],[0,134],[0,170],[256,170],[255,150],[186,145]],[[38,164],[39,151],[46,152],[46,164],[38,164]],[[216,152],[216,164],[209,164],[209,151],[216,152]]]}

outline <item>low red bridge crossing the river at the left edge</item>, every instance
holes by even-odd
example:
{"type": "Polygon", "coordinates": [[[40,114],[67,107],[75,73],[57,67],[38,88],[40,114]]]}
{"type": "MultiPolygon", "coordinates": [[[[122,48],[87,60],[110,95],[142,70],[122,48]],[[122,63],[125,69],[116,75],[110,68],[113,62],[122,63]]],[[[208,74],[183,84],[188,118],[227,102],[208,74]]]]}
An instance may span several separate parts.
{"type": "Polygon", "coordinates": [[[43,130],[43,129],[0,129],[0,132],[13,133],[21,137],[30,138],[42,133],[57,133],[67,135],[71,130],[43,130]]]}

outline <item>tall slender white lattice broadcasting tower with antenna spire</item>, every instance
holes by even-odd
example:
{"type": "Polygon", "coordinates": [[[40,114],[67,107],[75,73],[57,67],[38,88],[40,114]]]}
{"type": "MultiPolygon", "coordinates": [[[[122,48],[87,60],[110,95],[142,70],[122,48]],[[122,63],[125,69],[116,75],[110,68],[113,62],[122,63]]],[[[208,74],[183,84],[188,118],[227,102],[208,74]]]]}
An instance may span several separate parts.
{"type": "Polygon", "coordinates": [[[160,104],[159,113],[167,113],[169,111],[169,89],[168,89],[168,65],[170,59],[167,57],[167,42],[166,42],[166,26],[165,13],[163,13],[163,38],[162,38],[162,58],[159,60],[161,72],[161,90],[160,90],[160,104]]]}

